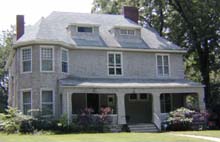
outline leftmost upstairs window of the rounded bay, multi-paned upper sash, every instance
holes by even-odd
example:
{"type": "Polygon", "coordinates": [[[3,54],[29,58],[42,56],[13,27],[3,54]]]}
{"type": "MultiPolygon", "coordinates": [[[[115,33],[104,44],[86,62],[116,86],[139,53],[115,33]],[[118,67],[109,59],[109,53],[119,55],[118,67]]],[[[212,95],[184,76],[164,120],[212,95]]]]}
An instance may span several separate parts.
{"type": "Polygon", "coordinates": [[[31,72],[32,68],[32,50],[31,48],[23,48],[21,49],[21,72],[31,72]]]}

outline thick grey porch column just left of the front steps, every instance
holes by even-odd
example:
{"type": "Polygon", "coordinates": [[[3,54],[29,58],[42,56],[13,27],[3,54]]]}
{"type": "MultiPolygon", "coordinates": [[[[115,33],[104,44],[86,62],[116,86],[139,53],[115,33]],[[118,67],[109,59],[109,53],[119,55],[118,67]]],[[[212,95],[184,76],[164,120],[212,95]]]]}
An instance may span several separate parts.
{"type": "Polygon", "coordinates": [[[118,109],[118,124],[126,124],[125,117],[125,94],[117,93],[117,109],[118,109]]]}

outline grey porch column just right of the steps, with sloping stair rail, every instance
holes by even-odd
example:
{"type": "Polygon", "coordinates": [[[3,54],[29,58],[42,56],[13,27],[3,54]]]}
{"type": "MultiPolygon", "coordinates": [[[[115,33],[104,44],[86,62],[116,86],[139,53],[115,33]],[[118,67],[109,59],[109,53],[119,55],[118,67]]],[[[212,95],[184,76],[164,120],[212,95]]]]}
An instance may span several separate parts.
{"type": "Polygon", "coordinates": [[[160,120],[160,93],[155,92],[153,93],[153,121],[154,124],[161,129],[161,120],[160,120]]]}

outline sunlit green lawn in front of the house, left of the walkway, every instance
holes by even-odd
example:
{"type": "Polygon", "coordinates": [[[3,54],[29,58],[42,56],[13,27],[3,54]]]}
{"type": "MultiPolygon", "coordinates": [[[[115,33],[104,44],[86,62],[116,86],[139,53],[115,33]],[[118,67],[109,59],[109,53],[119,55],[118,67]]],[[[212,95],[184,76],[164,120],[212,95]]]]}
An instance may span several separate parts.
{"type": "Polygon", "coordinates": [[[104,133],[66,135],[18,135],[0,133],[0,142],[208,142],[169,133],[104,133]]]}

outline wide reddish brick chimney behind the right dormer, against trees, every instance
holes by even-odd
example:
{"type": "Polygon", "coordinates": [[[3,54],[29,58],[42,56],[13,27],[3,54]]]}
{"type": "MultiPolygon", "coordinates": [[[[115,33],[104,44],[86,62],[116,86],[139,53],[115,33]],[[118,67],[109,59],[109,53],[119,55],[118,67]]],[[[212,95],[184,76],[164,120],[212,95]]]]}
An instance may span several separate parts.
{"type": "Polygon", "coordinates": [[[125,18],[128,18],[135,23],[138,23],[138,9],[136,7],[131,7],[131,6],[124,6],[123,7],[123,14],[125,18]]]}

